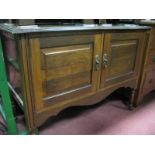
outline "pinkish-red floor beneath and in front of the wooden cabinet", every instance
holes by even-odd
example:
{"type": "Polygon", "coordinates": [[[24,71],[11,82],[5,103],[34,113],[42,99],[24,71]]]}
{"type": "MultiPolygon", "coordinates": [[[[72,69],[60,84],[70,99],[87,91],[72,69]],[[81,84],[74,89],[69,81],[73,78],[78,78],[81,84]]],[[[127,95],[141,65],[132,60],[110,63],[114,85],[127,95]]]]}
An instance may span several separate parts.
{"type": "MultiPolygon", "coordinates": [[[[1,118],[0,118],[1,119],[1,118]]],[[[22,117],[18,128],[24,130],[22,117]]],[[[41,135],[153,135],[155,134],[155,93],[129,111],[117,97],[88,107],[74,107],[50,118],[39,128],[41,135]]]]}

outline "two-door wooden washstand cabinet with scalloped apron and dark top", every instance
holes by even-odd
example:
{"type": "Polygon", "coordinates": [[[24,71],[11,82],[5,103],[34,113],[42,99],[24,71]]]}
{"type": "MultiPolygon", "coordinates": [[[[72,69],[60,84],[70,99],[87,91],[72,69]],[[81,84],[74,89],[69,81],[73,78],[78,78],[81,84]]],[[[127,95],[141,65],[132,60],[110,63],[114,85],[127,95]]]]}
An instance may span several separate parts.
{"type": "Polygon", "coordinates": [[[70,106],[95,104],[119,88],[133,105],[149,27],[1,24],[13,96],[33,132],[70,106]]]}

